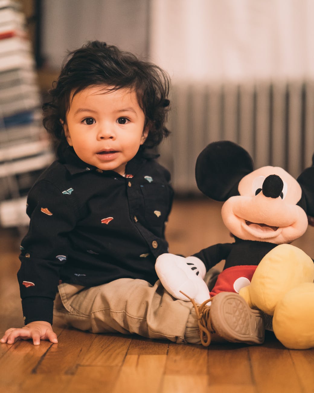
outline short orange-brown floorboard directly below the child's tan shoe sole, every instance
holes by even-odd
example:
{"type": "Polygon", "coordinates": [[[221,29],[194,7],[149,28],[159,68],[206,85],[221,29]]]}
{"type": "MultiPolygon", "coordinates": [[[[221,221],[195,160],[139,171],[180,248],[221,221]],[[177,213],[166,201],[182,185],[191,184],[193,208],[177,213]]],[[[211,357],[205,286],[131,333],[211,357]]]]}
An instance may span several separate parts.
{"type": "Polygon", "coordinates": [[[166,375],[206,375],[208,349],[202,345],[170,343],[166,375]]]}

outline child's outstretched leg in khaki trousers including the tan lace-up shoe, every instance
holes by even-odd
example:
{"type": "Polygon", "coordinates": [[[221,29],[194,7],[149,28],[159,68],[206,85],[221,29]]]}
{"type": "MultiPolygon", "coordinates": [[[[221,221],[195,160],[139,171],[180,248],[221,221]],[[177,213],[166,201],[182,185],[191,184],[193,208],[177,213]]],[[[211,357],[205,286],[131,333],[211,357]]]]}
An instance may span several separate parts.
{"type": "Polygon", "coordinates": [[[211,339],[217,341],[215,332],[219,341],[263,342],[261,313],[250,310],[238,294],[222,292],[205,309],[173,298],[159,280],[152,286],[144,280],[123,278],[92,288],[59,285],[54,323],[62,321],[93,333],[136,333],[176,343],[200,344],[200,329],[203,345],[209,345],[211,339]]]}

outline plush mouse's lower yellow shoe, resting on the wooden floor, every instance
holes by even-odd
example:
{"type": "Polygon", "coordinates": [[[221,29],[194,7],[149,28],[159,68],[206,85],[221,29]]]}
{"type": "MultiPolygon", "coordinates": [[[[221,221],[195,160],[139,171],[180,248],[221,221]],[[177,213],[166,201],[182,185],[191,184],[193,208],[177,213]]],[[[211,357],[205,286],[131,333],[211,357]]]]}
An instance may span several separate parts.
{"type": "Polygon", "coordinates": [[[278,302],[272,326],[285,347],[314,347],[314,283],[296,286],[278,302]]]}

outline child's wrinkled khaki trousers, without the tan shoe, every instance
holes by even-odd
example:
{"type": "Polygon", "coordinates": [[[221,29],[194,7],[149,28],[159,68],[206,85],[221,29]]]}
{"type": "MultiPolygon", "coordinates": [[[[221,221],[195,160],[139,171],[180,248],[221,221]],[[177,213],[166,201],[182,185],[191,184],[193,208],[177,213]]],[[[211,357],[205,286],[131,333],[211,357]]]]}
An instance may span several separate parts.
{"type": "Polygon", "coordinates": [[[54,324],[58,321],[94,333],[136,333],[144,337],[181,343],[199,342],[196,318],[189,318],[191,302],[173,299],[158,280],[123,278],[84,288],[61,284],[55,301],[54,324]],[[188,326],[187,321],[189,320],[188,326]]]}

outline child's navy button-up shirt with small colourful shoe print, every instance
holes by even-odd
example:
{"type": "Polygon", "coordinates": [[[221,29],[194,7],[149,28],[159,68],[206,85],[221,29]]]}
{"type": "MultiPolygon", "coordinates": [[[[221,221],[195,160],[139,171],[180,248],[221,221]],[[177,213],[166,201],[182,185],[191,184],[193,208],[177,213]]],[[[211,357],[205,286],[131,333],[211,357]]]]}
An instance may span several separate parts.
{"type": "Polygon", "coordinates": [[[155,156],[139,152],[124,177],[66,147],[27,198],[31,220],[18,271],[25,324],[52,323],[59,280],[87,287],[123,277],[155,283],[156,258],[168,252],[169,182],[155,156]]]}

